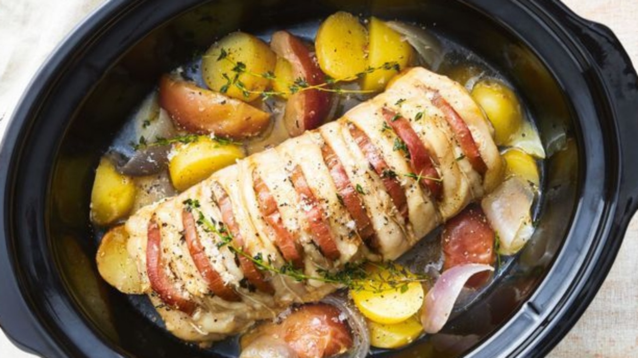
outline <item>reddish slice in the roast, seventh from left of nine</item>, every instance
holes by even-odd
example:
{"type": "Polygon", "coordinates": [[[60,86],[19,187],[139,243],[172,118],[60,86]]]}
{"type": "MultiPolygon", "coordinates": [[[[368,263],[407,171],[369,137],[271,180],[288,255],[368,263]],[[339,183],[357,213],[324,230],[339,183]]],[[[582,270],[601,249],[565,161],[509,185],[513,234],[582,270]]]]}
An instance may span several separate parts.
{"type": "Polygon", "coordinates": [[[390,169],[366,133],[357,128],[356,125],[350,124],[349,127],[350,134],[352,134],[355,142],[366,156],[370,166],[375,169],[375,173],[380,176],[385,190],[387,190],[392,199],[392,203],[394,203],[394,206],[396,206],[399,213],[401,213],[401,216],[408,220],[408,199],[405,196],[405,191],[401,187],[401,183],[399,183],[396,177],[396,173],[390,169]]]}

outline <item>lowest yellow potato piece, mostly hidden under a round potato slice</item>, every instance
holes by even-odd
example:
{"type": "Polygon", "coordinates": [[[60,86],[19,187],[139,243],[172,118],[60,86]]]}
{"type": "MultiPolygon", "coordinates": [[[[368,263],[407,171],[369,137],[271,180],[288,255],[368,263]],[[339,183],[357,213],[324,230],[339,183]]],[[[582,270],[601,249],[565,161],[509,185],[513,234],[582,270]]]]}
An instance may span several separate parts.
{"type": "Polygon", "coordinates": [[[395,324],[367,321],[370,344],[377,348],[399,348],[412,343],[423,333],[423,326],[416,316],[395,324]]]}

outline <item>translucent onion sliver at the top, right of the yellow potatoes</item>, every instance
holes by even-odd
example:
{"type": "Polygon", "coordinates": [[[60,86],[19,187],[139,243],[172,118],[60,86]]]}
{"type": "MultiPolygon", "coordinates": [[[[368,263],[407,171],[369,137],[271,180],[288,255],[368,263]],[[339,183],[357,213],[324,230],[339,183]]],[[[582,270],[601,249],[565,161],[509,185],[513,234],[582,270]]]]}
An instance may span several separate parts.
{"type": "Polygon", "coordinates": [[[438,68],[443,59],[443,48],[440,41],[424,29],[400,21],[386,23],[390,29],[402,34],[406,41],[419,53],[424,65],[430,69],[438,68]]]}

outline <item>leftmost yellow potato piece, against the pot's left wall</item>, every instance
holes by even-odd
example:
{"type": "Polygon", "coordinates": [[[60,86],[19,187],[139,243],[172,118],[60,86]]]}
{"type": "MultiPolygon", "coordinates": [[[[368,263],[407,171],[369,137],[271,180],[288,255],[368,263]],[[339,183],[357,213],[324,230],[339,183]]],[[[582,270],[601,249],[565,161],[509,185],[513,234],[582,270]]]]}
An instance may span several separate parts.
{"type": "Polygon", "coordinates": [[[128,215],[135,201],[135,183],[115,170],[113,163],[102,158],[95,172],[91,191],[91,220],[108,225],[128,215]]]}

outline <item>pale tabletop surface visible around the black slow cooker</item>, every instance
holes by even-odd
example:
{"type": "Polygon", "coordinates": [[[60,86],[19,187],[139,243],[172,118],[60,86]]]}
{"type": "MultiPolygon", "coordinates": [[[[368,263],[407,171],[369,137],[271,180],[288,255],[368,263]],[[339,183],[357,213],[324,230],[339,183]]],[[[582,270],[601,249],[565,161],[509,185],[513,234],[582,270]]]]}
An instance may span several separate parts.
{"type": "MultiPolygon", "coordinates": [[[[563,0],[582,17],[611,27],[638,64],[638,0],[563,0]]],[[[0,2],[0,136],[19,96],[48,54],[101,0],[0,2]]],[[[637,113],[638,118],[638,113],[637,113]]],[[[637,163],[638,164],[638,163],[637,163]]],[[[638,357],[638,217],[588,310],[552,358],[638,357]]],[[[0,331],[0,357],[33,357],[0,331]]]]}

